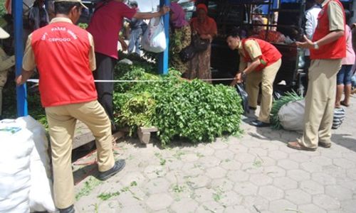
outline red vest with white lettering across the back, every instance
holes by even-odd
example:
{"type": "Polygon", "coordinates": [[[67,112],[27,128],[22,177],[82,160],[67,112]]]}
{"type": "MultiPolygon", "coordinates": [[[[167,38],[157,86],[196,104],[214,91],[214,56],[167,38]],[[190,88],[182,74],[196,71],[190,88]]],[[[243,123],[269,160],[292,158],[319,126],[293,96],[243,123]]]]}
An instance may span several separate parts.
{"type": "Polygon", "coordinates": [[[88,32],[55,22],[32,34],[43,107],[90,102],[97,98],[89,67],[88,32]]]}

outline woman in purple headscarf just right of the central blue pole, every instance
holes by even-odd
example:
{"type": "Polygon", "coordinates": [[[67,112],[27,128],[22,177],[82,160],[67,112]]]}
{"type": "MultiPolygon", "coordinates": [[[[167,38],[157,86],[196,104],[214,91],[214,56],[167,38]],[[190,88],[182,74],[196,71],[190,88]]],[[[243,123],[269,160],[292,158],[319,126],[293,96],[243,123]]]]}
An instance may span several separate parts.
{"type": "Polygon", "coordinates": [[[184,74],[184,72],[187,72],[188,70],[188,62],[182,62],[179,58],[179,52],[190,45],[192,31],[189,23],[185,19],[185,12],[182,9],[182,6],[176,2],[172,2],[170,9],[169,23],[171,28],[169,32],[169,40],[171,41],[171,45],[169,46],[169,53],[171,54],[171,65],[184,74]]]}

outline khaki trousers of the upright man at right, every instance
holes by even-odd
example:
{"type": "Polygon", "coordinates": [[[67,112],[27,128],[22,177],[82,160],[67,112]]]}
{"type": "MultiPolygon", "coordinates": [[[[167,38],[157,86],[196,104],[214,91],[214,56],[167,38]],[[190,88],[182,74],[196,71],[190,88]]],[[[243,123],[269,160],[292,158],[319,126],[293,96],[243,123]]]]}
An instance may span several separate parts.
{"type": "Polygon", "coordinates": [[[330,143],[333,126],[336,75],[341,60],[312,60],[309,68],[308,91],[305,96],[304,132],[298,142],[318,148],[318,142],[330,143]]]}

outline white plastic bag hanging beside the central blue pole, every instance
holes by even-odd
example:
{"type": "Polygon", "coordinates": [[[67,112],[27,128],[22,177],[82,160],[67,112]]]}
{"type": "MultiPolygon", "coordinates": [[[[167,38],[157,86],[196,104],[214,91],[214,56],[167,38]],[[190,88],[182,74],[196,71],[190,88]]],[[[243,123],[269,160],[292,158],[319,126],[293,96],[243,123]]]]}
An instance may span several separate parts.
{"type": "Polygon", "coordinates": [[[167,48],[162,17],[151,18],[142,36],[142,48],[149,52],[161,53],[167,48]]]}

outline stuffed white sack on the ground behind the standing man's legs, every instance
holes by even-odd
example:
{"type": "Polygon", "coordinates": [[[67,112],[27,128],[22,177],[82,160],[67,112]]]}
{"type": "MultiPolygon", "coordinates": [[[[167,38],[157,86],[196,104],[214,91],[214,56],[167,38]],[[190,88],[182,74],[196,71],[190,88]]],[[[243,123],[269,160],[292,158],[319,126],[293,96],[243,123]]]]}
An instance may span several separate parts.
{"type": "Polygon", "coordinates": [[[283,129],[302,132],[304,128],[305,99],[284,104],[278,111],[283,129]]]}

